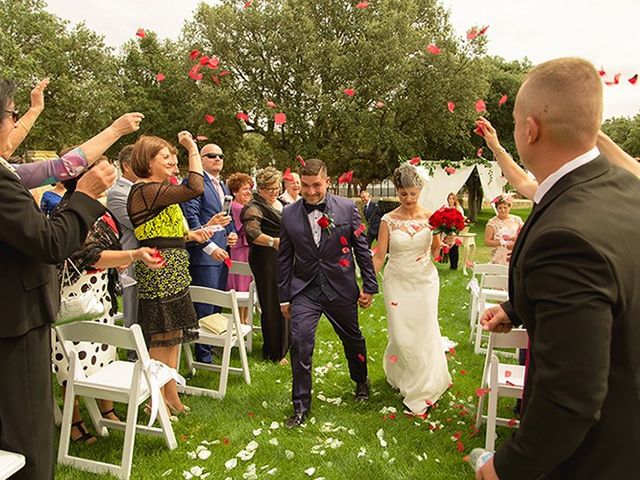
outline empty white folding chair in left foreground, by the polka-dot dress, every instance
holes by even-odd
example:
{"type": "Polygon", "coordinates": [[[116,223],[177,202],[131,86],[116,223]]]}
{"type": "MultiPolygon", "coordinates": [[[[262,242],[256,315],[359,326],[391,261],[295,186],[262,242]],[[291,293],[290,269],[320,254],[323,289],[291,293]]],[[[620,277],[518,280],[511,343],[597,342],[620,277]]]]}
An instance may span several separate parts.
{"type": "Polygon", "coordinates": [[[160,388],[174,378],[175,371],[149,358],[149,352],[139,325],[125,328],[97,322],[77,322],[59,325],[55,327],[55,331],[62,343],[63,352],[69,360],[58,463],[94,473],[111,473],[120,479],[128,479],[131,475],[133,445],[137,432],[163,437],[170,450],[178,446],[169,420],[169,413],[160,392],[160,388]],[[135,350],[138,360],[135,363],[117,360],[93,375],[86,376],[80,366],[73,342],[96,342],[135,350]],[[69,455],[69,436],[76,396],[83,397],[98,434],[108,435],[107,427],[124,430],[124,446],[120,465],[69,455]],[[138,407],[149,398],[152,399],[152,410],[157,409],[159,428],[138,425],[138,407]],[[126,421],[102,418],[96,399],[126,403],[126,421]]]}

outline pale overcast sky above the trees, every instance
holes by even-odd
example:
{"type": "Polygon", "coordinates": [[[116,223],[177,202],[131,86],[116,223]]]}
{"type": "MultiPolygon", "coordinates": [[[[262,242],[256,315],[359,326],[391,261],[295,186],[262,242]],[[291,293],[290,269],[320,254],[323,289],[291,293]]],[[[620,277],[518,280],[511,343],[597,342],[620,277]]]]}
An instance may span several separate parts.
{"type": "MultiPolygon", "coordinates": [[[[259,0],[257,0],[259,1],[259,0]]],[[[313,0],[301,0],[313,1],[313,0]]],[[[348,0],[345,0],[348,1],[348,0]]],[[[528,57],[539,63],[561,56],[581,56],[610,77],[621,73],[619,85],[605,87],[605,118],[640,113],[638,20],[640,0],[441,0],[460,35],[473,25],[489,25],[489,53],[508,60],[528,57]]],[[[355,2],[355,0],[354,0],[355,2]]],[[[184,20],[199,0],[48,0],[49,11],[84,21],[119,47],[139,27],[177,38],[184,20]]],[[[215,3],[209,1],[207,3],[215,3]]],[[[375,0],[371,1],[374,8],[375,0]]]]}

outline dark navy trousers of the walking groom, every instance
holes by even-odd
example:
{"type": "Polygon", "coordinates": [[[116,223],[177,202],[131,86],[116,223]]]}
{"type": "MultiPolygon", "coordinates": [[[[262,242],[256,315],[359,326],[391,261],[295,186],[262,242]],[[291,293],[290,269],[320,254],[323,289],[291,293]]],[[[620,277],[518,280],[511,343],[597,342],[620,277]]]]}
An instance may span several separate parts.
{"type": "Polygon", "coordinates": [[[311,368],[316,328],[324,314],[340,337],[349,364],[351,379],[362,383],[367,379],[367,349],[358,325],[355,300],[313,294],[309,289],[291,301],[291,370],[293,372],[293,409],[306,412],[311,408],[311,368]]]}

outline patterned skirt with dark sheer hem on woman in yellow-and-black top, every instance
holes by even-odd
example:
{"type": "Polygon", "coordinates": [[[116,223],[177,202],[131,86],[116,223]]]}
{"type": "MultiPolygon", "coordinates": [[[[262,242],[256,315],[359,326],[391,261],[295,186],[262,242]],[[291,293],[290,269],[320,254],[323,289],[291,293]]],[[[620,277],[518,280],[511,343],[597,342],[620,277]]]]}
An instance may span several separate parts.
{"type": "Polygon", "coordinates": [[[198,318],[189,296],[189,254],[183,248],[167,248],[162,250],[162,257],[166,265],[158,270],[136,263],[138,323],[151,338],[149,347],[170,347],[198,339],[198,318]]]}

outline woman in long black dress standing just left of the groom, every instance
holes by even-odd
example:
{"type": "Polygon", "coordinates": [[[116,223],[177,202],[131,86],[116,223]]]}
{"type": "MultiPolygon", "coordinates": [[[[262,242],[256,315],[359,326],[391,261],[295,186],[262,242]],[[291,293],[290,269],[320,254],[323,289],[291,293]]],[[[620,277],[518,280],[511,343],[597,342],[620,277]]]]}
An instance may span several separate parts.
{"type": "Polygon", "coordinates": [[[249,243],[249,265],[256,282],[262,315],[262,353],[267,360],[287,364],[289,324],[278,298],[278,247],[282,203],[278,200],[282,175],[273,167],[256,176],[257,193],[240,217],[249,243]]]}

